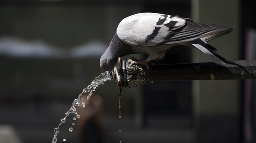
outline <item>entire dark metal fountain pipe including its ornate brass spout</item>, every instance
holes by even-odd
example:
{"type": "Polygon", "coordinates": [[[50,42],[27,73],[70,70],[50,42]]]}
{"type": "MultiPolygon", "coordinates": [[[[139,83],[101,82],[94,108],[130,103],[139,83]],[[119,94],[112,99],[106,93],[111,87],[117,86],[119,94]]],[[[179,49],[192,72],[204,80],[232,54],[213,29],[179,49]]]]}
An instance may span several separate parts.
{"type": "Polygon", "coordinates": [[[184,63],[151,66],[135,65],[131,59],[121,58],[114,67],[118,87],[135,87],[151,81],[171,80],[245,80],[256,79],[256,60],[241,60],[223,64],[184,63]]]}

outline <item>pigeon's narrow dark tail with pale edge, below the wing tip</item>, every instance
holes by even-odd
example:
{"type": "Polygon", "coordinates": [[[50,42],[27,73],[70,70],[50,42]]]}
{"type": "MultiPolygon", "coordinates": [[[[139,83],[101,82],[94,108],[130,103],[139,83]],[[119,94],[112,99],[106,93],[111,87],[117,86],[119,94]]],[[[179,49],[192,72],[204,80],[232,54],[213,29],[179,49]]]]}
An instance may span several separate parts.
{"type": "Polygon", "coordinates": [[[229,63],[229,61],[225,58],[223,58],[222,56],[219,56],[219,54],[216,52],[217,49],[214,48],[213,46],[207,44],[205,42],[204,39],[200,38],[200,39],[196,39],[194,41],[191,41],[190,44],[199,49],[200,51],[204,52],[207,55],[210,55],[212,57],[214,57],[215,59],[219,60],[222,63],[229,63]]]}

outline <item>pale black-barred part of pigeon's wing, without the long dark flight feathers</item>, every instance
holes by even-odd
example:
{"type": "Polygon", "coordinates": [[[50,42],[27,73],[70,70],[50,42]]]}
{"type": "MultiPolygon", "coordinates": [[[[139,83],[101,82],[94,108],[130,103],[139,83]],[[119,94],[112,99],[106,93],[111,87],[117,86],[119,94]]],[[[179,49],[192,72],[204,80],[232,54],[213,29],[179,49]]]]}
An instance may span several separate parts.
{"type": "Polygon", "coordinates": [[[124,18],[117,27],[117,35],[135,47],[156,46],[185,24],[186,19],[179,16],[139,13],[124,18]]]}

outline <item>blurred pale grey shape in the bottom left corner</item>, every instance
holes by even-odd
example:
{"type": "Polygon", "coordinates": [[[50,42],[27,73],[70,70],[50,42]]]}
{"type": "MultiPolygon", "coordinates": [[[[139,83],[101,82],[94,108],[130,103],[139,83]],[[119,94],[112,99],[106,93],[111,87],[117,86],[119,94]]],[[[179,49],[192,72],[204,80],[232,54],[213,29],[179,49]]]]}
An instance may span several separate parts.
{"type": "Polygon", "coordinates": [[[15,129],[10,125],[0,125],[0,143],[22,143],[15,129]]]}

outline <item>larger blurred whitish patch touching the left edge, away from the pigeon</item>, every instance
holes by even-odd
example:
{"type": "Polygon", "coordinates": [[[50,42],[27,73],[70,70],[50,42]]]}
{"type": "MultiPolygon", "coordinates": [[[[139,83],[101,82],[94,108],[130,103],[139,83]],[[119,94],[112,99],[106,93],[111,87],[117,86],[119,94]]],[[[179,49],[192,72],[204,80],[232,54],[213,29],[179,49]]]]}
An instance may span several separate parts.
{"type": "Polygon", "coordinates": [[[0,55],[14,57],[61,57],[62,49],[51,47],[41,41],[27,42],[18,38],[0,38],[0,55]]]}

